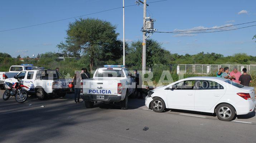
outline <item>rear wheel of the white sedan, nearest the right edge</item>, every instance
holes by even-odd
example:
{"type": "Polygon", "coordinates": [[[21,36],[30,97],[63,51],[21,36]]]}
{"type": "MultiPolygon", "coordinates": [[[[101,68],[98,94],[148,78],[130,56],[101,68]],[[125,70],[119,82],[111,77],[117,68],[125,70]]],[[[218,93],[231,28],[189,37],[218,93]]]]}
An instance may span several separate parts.
{"type": "Polygon", "coordinates": [[[235,108],[229,104],[220,104],[215,111],[217,117],[221,121],[231,121],[235,117],[235,108]]]}

